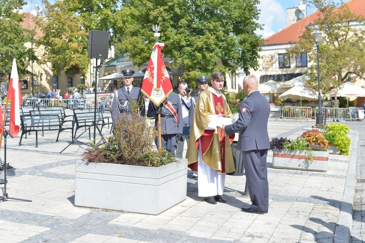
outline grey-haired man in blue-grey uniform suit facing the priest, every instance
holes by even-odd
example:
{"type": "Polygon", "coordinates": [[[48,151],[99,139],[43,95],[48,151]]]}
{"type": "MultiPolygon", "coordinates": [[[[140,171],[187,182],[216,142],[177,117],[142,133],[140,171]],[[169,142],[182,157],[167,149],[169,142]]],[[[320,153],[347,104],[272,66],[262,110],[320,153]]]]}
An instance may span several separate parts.
{"type": "Polygon", "coordinates": [[[243,90],[247,97],[241,103],[239,118],[235,123],[222,128],[227,135],[239,132],[237,150],[242,151],[252,202],[250,208],[242,208],[242,211],[264,214],[269,208],[266,158],[270,148],[267,129],[270,105],[257,88],[256,76],[248,75],[244,78],[243,90]]]}

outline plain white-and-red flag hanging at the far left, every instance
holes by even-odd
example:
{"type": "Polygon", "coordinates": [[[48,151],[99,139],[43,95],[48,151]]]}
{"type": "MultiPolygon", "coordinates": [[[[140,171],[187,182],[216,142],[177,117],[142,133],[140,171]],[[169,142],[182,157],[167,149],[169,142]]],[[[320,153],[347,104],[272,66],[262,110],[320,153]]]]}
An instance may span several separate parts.
{"type": "Polygon", "coordinates": [[[17,137],[20,128],[20,104],[23,103],[20,93],[19,76],[17,69],[17,62],[13,59],[13,66],[11,68],[10,82],[8,88],[8,100],[10,100],[10,123],[9,132],[17,137]]]}

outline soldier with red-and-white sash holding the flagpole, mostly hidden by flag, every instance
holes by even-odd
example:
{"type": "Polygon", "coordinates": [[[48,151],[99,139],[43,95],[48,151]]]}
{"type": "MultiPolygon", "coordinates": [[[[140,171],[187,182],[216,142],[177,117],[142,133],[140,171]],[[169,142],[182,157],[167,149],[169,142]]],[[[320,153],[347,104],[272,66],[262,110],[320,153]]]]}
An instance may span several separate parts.
{"type": "MultiPolygon", "coordinates": [[[[171,75],[169,78],[172,81],[171,75]]],[[[156,129],[158,129],[158,114],[161,114],[161,147],[175,155],[178,140],[183,134],[183,113],[179,95],[172,92],[159,107],[152,102],[148,104],[147,117],[156,119],[156,129]]],[[[158,138],[155,139],[155,143],[158,147],[158,138]]]]}

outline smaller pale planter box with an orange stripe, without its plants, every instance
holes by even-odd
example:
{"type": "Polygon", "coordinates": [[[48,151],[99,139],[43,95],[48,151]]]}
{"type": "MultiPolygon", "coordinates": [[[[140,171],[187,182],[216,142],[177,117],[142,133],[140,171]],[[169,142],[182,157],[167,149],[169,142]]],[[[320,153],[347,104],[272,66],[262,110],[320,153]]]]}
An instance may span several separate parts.
{"type": "Polygon", "coordinates": [[[307,151],[274,150],[273,167],[300,171],[326,172],[329,169],[329,151],[312,151],[313,162],[307,161],[307,151]]]}

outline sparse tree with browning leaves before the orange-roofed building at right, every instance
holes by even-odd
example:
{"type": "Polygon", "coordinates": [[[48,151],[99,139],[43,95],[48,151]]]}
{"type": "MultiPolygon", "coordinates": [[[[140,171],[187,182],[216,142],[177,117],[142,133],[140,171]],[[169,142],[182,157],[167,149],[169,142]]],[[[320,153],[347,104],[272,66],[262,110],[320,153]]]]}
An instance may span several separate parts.
{"type": "Polygon", "coordinates": [[[365,76],[365,30],[363,17],[357,16],[346,4],[338,4],[328,0],[311,0],[318,8],[318,18],[306,27],[299,41],[288,52],[308,53],[313,61],[306,74],[310,77],[309,85],[317,85],[317,49],[314,44],[314,31],[322,32],[319,45],[321,85],[327,92],[346,82],[349,75],[360,78],[365,76]],[[313,48],[314,47],[314,48],[313,48]]]}

